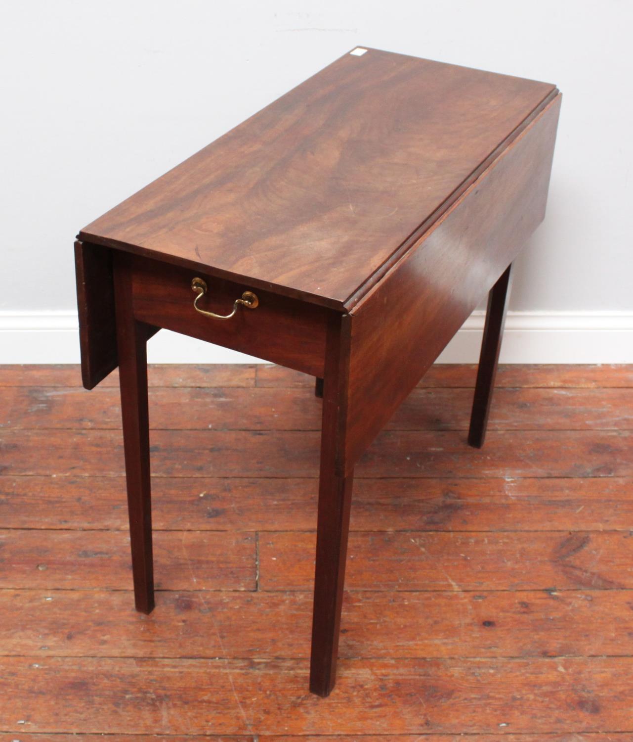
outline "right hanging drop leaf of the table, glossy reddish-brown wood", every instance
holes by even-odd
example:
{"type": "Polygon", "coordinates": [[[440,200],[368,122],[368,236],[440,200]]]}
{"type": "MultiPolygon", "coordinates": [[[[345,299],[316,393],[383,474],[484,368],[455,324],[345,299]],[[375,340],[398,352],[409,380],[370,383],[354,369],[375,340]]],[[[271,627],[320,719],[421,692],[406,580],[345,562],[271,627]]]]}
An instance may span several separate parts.
{"type": "Polygon", "coordinates": [[[351,310],[346,466],[362,456],[543,221],[560,99],[351,310]]]}

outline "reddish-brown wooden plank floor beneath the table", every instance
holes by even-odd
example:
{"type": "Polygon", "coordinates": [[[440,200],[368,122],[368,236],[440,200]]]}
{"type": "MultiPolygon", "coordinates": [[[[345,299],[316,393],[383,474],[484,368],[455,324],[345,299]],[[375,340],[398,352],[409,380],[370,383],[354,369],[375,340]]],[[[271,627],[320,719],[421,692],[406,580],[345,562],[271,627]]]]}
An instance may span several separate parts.
{"type": "Polygon", "coordinates": [[[308,694],[321,402],[154,367],[133,610],[116,374],[0,367],[0,742],[633,739],[633,367],[434,367],[357,467],[337,687],[308,694]],[[159,736],[153,736],[159,735],[159,736]]]}

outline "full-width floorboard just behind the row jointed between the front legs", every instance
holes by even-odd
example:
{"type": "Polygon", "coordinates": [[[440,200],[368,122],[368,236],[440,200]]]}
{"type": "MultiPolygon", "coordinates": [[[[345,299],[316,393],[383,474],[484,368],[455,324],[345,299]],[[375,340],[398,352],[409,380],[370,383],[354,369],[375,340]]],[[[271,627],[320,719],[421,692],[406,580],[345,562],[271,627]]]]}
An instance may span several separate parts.
{"type": "MultiPolygon", "coordinates": [[[[631,479],[362,479],[352,531],[629,531],[631,479]]],[[[316,479],[153,478],[153,525],[168,531],[314,531],[316,479]]],[[[0,476],[12,528],[127,531],[122,476],[0,476]]]]}

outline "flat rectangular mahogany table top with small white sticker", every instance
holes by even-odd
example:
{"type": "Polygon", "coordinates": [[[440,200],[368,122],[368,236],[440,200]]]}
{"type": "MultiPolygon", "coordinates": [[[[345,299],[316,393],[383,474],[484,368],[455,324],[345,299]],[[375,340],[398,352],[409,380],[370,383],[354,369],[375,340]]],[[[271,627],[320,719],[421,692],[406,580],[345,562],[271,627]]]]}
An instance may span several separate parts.
{"type": "Polygon", "coordinates": [[[79,238],[343,309],[555,91],[375,49],[347,53],[79,238]]]}

